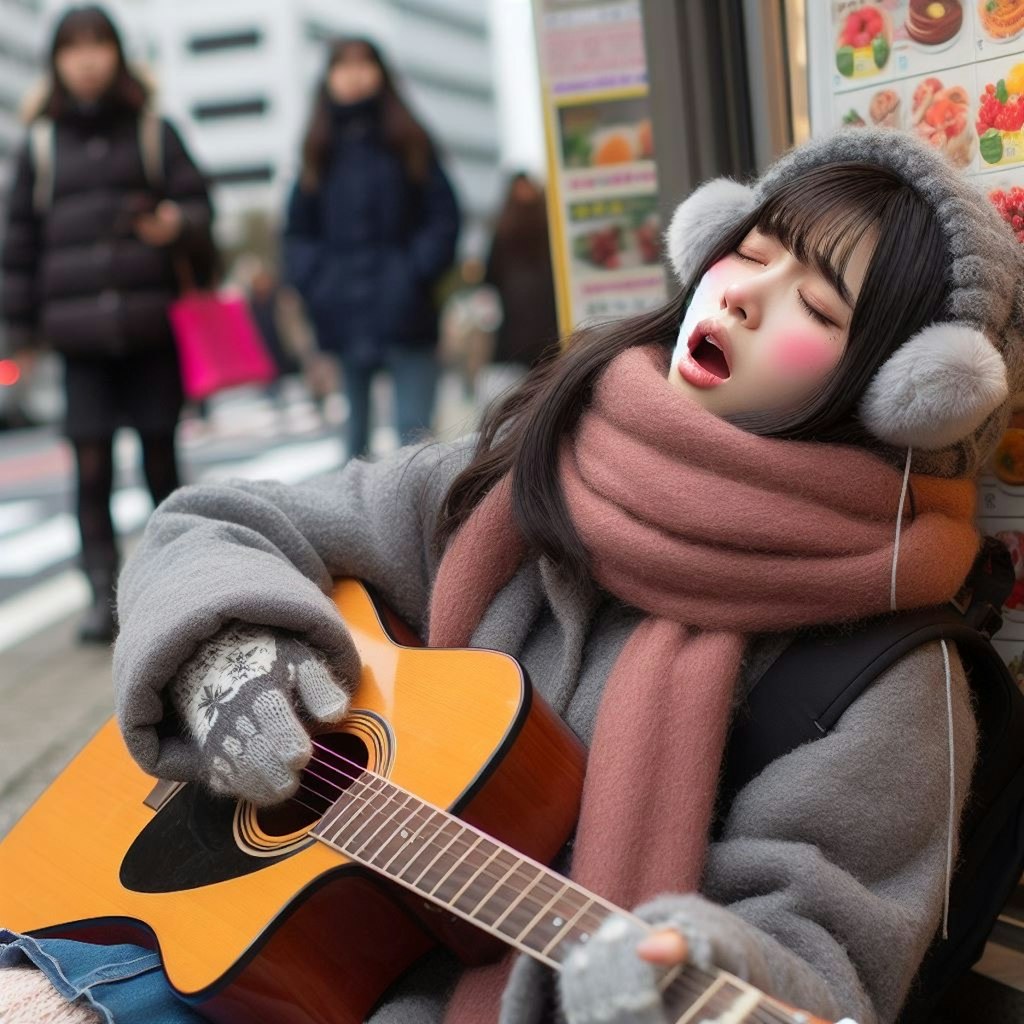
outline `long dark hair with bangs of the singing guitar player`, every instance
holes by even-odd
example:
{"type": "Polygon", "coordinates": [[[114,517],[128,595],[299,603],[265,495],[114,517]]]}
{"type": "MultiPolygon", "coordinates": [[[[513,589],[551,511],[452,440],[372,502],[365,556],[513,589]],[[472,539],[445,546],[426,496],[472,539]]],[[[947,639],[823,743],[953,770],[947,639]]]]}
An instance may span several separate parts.
{"type": "Polygon", "coordinates": [[[897,175],[873,164],[831,164],[808,171],[768,197],[721,240],[693,280],[666,305],[584,328],[563,352],[542,360],[485,417],[474,458],[453,481],[441,506],[437,543],[443,546],[483,496],[511,472],[512,511],[526,544],[551,558],[569,579],[583,582],[589,559],[558,479],[561,440],[616,355],[650,344],[672,351],[700,278],[754,228],[779,239],[836,283],[842,282],[865,232],[873,232],[876,242],[846,351],[818,392],[795,410],[731,421],[763,436],[877,446],[857,418],[857,403],[892,352],[941,316],[947,291],[945,246],[935,214],[897,175]]]}

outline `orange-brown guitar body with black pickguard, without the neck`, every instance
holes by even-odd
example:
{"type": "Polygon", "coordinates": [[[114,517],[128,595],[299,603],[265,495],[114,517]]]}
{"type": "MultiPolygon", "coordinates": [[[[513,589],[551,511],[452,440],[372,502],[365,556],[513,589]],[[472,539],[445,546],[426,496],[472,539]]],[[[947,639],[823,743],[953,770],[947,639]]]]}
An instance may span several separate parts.
{"type": "MultiPolygon", "coordinates": [[[[360,584],[334,596],[364,669],[349,716],[316,737],[331,749],[317,771],[367,767],[550,862],[585,752],[518,665],[402,646],[360,584]]],[[[0,924],[159,948],[171,984],[219,1024],[356,1024],[436,942],[467,963],[505,949],[317,842],[312,790],[297,795],[311,806],[259,812],[165,790],[104,725],[0,843],[0,924]]]]}

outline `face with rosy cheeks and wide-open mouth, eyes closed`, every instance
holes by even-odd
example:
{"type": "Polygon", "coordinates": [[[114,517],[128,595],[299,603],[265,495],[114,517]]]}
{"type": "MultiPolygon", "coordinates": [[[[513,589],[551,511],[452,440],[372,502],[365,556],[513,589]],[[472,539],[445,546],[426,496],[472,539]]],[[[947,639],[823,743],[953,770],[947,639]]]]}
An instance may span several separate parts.
{"type": "Polygon", "coordinates": [[[777,239],[751,231],[700,279],[669,381],[716,416],[798,406],[846,350],[873,246],[865,236],[854,250],[844,296],[777,239]]]}

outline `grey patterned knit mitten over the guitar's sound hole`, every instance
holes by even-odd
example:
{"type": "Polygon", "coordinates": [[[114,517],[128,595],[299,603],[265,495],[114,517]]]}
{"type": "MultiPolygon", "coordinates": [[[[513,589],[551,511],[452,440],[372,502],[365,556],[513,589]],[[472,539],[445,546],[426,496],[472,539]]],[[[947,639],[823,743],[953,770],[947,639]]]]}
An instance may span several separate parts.
{"type": "Polygon", "coordinates": [[[338,722],[348,679],[291,634],[233,623],[181,667],[170,699],[199,749],[199,775],[215,793],[266,806],[292,796],[312,755],[300,718],[338,722]]]}

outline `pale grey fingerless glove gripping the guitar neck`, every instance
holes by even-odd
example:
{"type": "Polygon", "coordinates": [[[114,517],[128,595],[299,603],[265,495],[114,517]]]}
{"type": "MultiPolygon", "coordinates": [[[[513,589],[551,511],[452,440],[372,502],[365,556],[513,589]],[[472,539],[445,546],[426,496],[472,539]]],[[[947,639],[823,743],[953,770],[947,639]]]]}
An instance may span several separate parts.
{"type": "MultiPolygon", "coordinates": [[[[710,968],[708,940],[689,923],[662,918],[654,929],[675,928],[689,945],[689,958],[710,968]]],[[[636,918],[613,914],[586,945],[565,958],[559,978],[562,1012],[568,1024],[668,1024],[672,1014],[662,996],[665,968],[641,959],[636,948],[652,931],[636,918]],[[668,1011],[668,1012],[667,1012],[668,1011]]]]}

